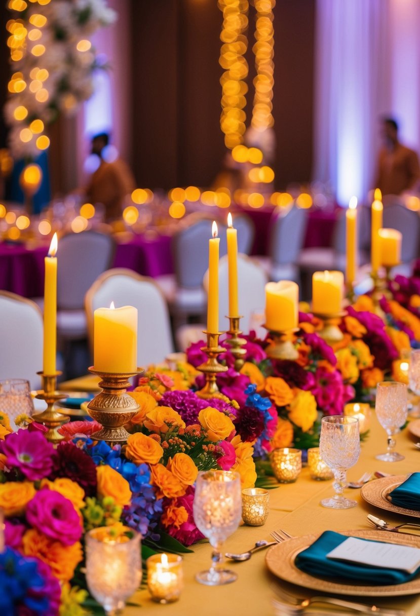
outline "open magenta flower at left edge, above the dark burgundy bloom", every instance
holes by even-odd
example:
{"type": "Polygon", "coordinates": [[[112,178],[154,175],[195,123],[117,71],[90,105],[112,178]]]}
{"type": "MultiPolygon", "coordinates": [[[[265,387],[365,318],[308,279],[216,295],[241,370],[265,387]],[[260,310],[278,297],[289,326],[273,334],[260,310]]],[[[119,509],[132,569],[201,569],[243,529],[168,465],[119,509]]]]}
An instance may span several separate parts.
{"type": "Polygon", "coordinates": [[[7,434],[0,443],[0,452],[6,456],[7,468],[16,468],[30,481],[47,477],[55,457],[54,447],[41,432],[18,430],[7,434]]]}

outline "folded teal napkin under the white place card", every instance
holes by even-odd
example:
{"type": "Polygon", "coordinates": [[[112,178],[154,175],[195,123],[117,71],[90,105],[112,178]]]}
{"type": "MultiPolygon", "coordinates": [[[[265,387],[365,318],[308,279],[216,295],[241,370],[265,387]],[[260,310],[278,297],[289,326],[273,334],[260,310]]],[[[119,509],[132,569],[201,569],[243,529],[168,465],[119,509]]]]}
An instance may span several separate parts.
{"type": "MultiPolygon", "coordinates": [[[[381,586],[410,582],[420,572],[420,567],[414,573],[407,573],[397,569],[387,569],[387,567],[370,567],[369,565],[336,561],[326,557],[326,554],[329,554],[332,549],[346,539],[347,537],[344,537],[344,535],[326,530],[309,548],[297,554],[294,564],[298,569],[310,573],[310,575],[343,578],[344,580],[381,586]]],[[[368,541],[368,539],[363,541],[368,541]]]]}

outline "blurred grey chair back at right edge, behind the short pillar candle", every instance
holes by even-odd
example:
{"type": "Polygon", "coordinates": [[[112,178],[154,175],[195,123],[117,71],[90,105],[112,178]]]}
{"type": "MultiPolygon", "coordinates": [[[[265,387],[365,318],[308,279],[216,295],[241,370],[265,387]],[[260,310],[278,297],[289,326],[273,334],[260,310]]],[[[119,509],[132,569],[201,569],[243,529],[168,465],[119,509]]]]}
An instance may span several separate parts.
{"type": "Polygon", "coordinates": [[[397,229],[402,233],[401,260],[408,263],[419,254],[420,215],[399,203],[384,208],[383,225],[387,229],[397,229]]]}

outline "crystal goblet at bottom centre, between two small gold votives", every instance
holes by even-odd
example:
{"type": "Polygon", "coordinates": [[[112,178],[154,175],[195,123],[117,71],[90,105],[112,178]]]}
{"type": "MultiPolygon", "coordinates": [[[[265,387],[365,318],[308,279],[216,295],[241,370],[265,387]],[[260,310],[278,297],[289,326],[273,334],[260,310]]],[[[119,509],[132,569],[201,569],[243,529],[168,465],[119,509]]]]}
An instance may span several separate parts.
{"type": "Polygon", "coordinates": [[[200,472],[196,481],[194,521],[212,546],[212,565],[195,576],[197,582],[218,586],[235,582],[236,573],[222,568],[222,543],[238,528],[242,511],[241,479],[237,472],[200,472]]]}

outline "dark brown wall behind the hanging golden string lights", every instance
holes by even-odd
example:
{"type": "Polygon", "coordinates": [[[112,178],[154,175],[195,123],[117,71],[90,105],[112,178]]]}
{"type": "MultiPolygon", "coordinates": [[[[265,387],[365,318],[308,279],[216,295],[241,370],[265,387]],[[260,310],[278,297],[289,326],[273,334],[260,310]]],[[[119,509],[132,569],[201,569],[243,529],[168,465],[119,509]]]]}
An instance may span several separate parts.
{"type": "MultiPolygon", "coordinates": [[[[133,165],[146,187],[206,186],[220,168],[222,14],[216,0],[132,0],[133,165]]],[[[277,0],[276,184],[310,179],[315,0],[277,0]]],[[[254,9],[249,13],[252,47],[254,9]]],[[[248,83],[252,86],[252,54],[248,83]]],[[[247,115],[251,109],[252,87],[247,115]]]]}

